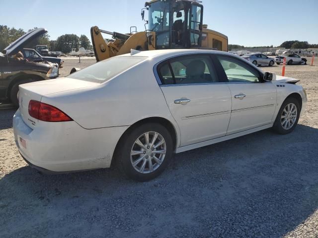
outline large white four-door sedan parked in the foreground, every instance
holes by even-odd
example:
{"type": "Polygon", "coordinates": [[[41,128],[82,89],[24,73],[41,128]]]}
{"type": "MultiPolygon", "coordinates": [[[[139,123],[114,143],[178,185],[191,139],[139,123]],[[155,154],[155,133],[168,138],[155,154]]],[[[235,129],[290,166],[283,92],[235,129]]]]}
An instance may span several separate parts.
{"type": "Polygon", "coordinates": [[[40,171],[116,162],[145,181],[173,153],[270,127],[290,133],[307,103],[298,81],[220,51],[135,51],[66,78],[20,85],[15,142],[40,171]]]}

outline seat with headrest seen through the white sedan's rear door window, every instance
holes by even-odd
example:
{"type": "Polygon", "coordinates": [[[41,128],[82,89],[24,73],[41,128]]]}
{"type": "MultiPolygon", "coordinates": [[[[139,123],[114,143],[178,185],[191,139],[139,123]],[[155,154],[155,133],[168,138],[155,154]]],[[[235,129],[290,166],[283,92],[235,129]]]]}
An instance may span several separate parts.
{"type": "Polygon", "coordinates": [[[186,78],[182,83],[207,83],[212,82],[210,74],[205,74],[205,63],[202,60],[191,61],[186,68],[186,78]]]}

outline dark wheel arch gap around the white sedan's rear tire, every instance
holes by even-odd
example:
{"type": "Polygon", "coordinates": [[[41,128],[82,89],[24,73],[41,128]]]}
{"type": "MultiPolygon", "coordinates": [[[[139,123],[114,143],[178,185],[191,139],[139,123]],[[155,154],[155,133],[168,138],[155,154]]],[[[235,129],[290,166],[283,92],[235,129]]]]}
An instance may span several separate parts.
{"type": "Polygon", "coordinates": [[[177,129],[175,128],[175,126],[173,125],[173,123],[171,123],[171,121],[169,121],[168,119],[165,118],[161,118],[161,117],[152,117],[152,118],[145,118],[145,119],[141,119],[137,122],[135,122],[134,124],[132,124],[131,126],[129,126],[125,132],[121,135],[121,137],[119,138],[119,140],[117,141],[116,147],[115,147],[115,151],[113,154],[113,158],[112,158],[112,162],[111,165],[114,164],[115,161],[115,157],[118,153],[118,148],[117,146],[120,144],[121,140],[123,140],[125,138],[125,136],[127,134],[130,133],[130,131],[132,131],[134,128],[137,128],[139,126],[141,126],[142,124],[145,123],[158,123],[163,125],[165,128],[167,128],[167,130],[170,132],[170,135],[172,137],[172,142],[173,142],[173,150],[176,149],[177,146],[177,129]]]}

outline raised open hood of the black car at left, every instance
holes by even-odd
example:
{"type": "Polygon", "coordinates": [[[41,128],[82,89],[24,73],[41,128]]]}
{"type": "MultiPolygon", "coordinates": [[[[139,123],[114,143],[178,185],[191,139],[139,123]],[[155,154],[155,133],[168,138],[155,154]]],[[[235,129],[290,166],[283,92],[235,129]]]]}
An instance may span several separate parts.
{"type": "Polygon", "coordinates": [[[11,44],[9,44],[3,51],[2,53],[6,56],[9,55],[15,55],[16,53],[18,53],[19,51],[21,51],[28,43],[30,43],[32,40],[36,39],[39,36],[42,36],[43,34],[47,33],[48,31],[45,30],[44,28],[37,28],[34,29],[26,34],[24,34],[23,36],[21,36],[20,38],[18,38],[17,40],[15,40],[14,42],[12,42],[11,44]]]}

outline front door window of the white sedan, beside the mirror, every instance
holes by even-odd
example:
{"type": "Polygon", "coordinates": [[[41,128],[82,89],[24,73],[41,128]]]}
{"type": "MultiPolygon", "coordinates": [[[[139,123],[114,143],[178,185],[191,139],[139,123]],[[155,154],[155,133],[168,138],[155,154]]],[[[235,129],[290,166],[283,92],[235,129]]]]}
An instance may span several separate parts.
{"type": "Polygon", "coordinates": [[[218,56],[229,82],[260,82],[257,70],[232,57],[218,56]]]}

